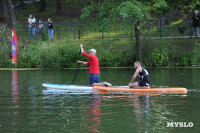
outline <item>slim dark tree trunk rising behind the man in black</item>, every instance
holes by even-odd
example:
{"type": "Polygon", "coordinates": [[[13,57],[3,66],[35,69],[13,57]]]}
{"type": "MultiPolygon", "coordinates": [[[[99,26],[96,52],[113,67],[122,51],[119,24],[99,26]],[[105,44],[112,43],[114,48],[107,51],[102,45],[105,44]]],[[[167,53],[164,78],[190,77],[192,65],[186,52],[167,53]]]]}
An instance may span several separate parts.
{"type": "Polygon", "coordinates": [[[135,24],[135,39],[137,47],[137,59],[142,64],[139,21],[135,24]]]}

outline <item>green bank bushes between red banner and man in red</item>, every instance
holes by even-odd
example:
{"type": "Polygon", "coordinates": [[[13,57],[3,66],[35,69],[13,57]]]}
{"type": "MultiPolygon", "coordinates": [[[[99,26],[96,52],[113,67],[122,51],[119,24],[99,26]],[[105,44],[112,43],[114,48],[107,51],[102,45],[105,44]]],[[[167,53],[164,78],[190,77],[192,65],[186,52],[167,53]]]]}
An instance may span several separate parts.
{"type": "Polygon", "coordinates": [[[20,51],[19,66],[33,68],[75,67],[79,47],[72,44],[38,44],[20,51]]]}

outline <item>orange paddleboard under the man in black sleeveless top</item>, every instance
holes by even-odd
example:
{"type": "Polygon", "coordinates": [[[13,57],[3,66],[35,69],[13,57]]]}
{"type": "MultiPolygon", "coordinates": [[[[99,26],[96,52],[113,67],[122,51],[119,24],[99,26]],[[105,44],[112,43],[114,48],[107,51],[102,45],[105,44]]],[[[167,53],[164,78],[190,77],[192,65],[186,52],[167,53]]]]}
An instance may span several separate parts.
{"type": "Polygon", "coordinates": [[[93,89],[103,92],[153,92],[153,93],[187,93],[186,88],[150,88],[150,89],[132,89],[129,87],[104,87],[94,86],[93,89]]]}

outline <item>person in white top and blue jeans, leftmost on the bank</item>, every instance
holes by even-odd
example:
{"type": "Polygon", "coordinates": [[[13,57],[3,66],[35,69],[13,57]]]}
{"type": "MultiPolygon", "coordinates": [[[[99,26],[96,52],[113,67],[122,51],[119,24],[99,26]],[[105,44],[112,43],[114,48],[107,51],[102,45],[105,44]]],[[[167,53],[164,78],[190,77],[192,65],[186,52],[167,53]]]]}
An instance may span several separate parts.
{"type": "Polygon", "coordinates": [[[29,28],[29,32],[30,32],[30,35],[31,35],[31,38],[35,38],[35,22],[36,22],[36,19],[35,17],[30,14],[29,18],[28,18],[28,28],[29,28]]]}

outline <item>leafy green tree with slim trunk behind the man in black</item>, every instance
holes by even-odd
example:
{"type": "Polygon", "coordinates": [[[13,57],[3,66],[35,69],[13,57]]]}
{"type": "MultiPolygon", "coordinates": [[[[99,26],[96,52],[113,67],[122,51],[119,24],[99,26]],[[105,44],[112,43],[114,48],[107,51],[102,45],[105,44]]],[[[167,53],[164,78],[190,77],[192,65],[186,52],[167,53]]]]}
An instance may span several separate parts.
{"type": "Polygon", "coordinates": [[[127,29],[135,29],[137,59],[142,62],[140,46],[139,21],[150,17],[151,12],[158,11],[162,14],[167,9],[165,0],[102,0],[98,1],[98,6],[90,2],[89,6],[82,9],[81,18],[91,18],[95,10],[98,11],[97,21],[100,30],[105,30],[109,25],[120,23],[121,20],[131,19],[134,26],[127,26],[127,29]],[[98,9],[97,9],[98,8],[98,9]]]}

